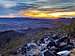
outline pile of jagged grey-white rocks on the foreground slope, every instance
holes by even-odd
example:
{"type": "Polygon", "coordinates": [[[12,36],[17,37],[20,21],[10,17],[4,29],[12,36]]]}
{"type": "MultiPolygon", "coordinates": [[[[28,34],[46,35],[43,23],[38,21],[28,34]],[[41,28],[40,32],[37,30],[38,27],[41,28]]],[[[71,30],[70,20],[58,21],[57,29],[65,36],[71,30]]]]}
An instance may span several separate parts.
{"type": "Polygon", "coordinates": [[[38,41],[31,41],[17,48],[17,56],[70,56],[75,48],[71,35],[63,32],[50,32],[38,41]]]}

